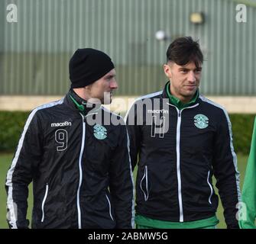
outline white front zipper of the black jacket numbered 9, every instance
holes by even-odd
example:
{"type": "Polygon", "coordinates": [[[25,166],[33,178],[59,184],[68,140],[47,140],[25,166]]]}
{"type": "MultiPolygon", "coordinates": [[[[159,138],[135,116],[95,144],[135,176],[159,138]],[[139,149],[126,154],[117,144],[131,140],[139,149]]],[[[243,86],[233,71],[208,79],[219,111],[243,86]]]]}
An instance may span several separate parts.
{"type": "Polygon", "coordinates": [[[77,189],[77,194],[76,194],[76,206],[77,206],[77,214],[78,214],[78,228],[82,229],[82,220],[81,220],[81,208],[80,208],[80,199],[79,199],[79,194],[80,194],[80,188],[82,185],[82,179],[83,179],[83,172],[82,172],[82,159],[83,159],[83,151],[84,151],[84,146],[85,146],[85,141],[86,141],[86,121],[85,117],[83,114],[80,114],[83,118],[83,136],[82,136],[82,146],[79,154],[79,185],[77,189]]]}

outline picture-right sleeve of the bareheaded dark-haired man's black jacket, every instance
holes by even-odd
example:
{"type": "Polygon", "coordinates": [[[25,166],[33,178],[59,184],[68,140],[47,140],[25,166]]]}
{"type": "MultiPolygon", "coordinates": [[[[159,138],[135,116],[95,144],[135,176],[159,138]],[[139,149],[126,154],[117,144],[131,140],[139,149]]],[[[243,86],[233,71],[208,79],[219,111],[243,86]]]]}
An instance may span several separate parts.
{"type": "Polygon", "coordinates": [[[236,205],[241,197],[239,172],[232,143],[232,125],[225,111],[219,117],[219,129],[214,143],[213,171],[224,208],[225,223],[228,228],[239,228],[236,219],[236,205]]]}

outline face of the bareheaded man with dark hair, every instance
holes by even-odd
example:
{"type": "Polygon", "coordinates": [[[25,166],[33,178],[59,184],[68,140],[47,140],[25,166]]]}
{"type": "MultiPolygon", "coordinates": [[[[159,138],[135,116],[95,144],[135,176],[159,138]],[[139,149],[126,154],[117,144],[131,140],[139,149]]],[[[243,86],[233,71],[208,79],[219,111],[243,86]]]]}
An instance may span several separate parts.
{"type": "Polygon", "coordinates": [[[199,67],[196,67],[193,62],[184,66],[179,66],[174,62],[164,65],[164,73],[170,79],[170,92],[183,103],[189,102],[195,95],[199,87],[201,72],[202,65],[199,64],[199,67]]]}

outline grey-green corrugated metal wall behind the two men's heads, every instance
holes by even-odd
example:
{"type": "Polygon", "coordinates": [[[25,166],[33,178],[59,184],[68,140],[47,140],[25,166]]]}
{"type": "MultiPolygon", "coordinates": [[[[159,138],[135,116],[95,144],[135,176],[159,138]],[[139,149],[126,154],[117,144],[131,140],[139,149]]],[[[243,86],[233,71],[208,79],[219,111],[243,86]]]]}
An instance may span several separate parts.
{"type": "MultiPolygon", "coordinates": [[[[242,2],[242,1],[240,1],[242,2]]],[[[63,95],[68,62],[77,48],[93,47],[112,57],[117,95],[143,95],[166,82],[162,65],[170,42],[199,39],[206,61],[201,92],[256,95],[256,8],[237,22],[230,0],[1,0],[0,95],[63,95]],[[6,9],[17,5],[17,22],[6,9]],[[190,21],[203,13],[202,24],[190,21]],[[157,40],[164,30],[166,40],[157,40]]]]}

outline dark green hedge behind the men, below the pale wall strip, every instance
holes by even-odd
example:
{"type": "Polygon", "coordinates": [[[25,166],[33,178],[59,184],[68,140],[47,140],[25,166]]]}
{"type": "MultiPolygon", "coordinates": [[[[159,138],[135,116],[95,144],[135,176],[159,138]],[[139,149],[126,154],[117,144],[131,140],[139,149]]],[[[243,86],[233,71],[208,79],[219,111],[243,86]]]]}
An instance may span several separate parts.
{"type": "MultiPolygon", "coordinates": [[[[0,151],[12,152],[28,117],[28,112],[0,111],[0,151]]],[[[235,152],[248,154],[255,114],[229,114],[235,152]]]]}

